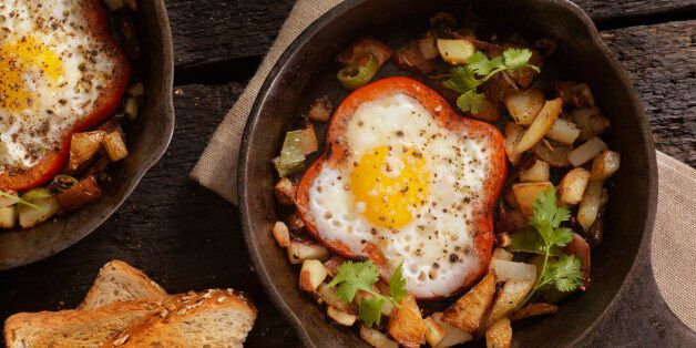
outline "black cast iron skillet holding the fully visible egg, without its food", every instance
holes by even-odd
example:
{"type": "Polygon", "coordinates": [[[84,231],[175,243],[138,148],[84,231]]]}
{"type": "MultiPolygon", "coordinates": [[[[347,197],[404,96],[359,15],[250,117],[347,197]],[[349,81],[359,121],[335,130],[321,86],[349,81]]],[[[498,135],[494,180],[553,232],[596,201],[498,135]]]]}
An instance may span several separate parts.
{"type": "MultiPolygon", "coordinates": [[[[336,81],[339,66],[332,61],[350,41],[369,34],[398,48],[424,32],[430,16],[448,11],[461,19],[470,3],[465,0],[345,1],[295,40],[260,89],[239,158],[242,222],[258,276],[307,346],[365,344],[355,329],[330,325],[321,307],[301,294],[297,270],[272,238],[269,231],[277,207],[270,158],[277,155],[285,131],[307,112],[314,99],[328,94],[336,104],[347,94],[336,81]]],[[[590,290],[567,300],[553,316],[515,325],[513,342],[567,346],[665,341],[669,337],[677,337],[676,342],[693,340],[694,334],[668,311],[657,295],[649,270],[657,170],[648,124],[641,101],[592,21],[576,6],[563,0],[489,0],[471,4],[473,13],[483,23],[492,24],[502,38],[519,32],[528,39],[546,37],[557,42],[559,50],[544,66],[544,74],[562,72],[566,78],[590,84],[603,113],[612,121],[612,131],[605,136],[610,147],[622,155],[622,168],[608,187],[612,198],[604,242],[593,248],[590,290]],[[636,287],[638,295],[631,295],[627,288],[636,293],[636,287]],[[634,332],[622,327],[624,317],[615,315],[621,313],[616,308],[641,306],[652,316],[645,320],[657,323],[645,327],[658,330],[634,332]]],[[[380,71],[380,76],[390,74],[408,75],[393,66],[380,71]]],[[[321,136],[324,131],[319,130],[321,136]]],[[[623,316],[631,317],[635,313],[632,309],[624,310],[623,316]]]]}

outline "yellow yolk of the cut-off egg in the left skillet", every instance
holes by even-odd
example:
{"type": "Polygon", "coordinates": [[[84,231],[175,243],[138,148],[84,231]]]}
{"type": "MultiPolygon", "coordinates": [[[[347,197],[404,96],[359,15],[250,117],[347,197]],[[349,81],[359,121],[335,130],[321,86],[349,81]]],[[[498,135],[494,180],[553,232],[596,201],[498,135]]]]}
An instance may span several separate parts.
{"type": "Polygon", "coordinates": [[[0,47],[0,108],[8,111],[31,109],[32,95],[39,93],[37,76],[58,82],[63,65],[54,51],[33,38],[22,38],[0,47]]]}

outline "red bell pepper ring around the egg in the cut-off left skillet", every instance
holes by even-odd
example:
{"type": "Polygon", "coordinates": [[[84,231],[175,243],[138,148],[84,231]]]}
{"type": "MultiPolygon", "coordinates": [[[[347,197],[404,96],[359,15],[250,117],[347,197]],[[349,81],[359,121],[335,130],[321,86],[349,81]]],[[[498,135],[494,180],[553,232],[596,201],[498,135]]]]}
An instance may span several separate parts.
{"type": "Polygon", "coordinates": [[[104,51],[114,61],[110,84],[100,91],[101,94],[94,103],[94,109],[80,120],[70,132],[66,132],[58,149],[44,153],[43,158],[30,168],[9,168],[1,172],[0,191],[24,191],[52,180],[63,170],[68,161],[71,135],[99,124],[119,106],[121,96],[129,83],[131,69],[121,45],[111,35],[102,2],[102,0],[80,0],[80,6],[88,20],[86,28],[89,28],[90,34],[96,42],[103,43],[104,51]]]}

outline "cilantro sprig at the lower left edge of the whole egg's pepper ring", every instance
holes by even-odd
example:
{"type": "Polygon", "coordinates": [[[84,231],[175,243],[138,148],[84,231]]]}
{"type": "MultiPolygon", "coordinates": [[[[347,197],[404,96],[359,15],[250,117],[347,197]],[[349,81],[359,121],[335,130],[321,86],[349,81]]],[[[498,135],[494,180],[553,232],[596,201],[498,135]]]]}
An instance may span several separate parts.
{"type": "Polygon", "coordinates": [[[336,273],[329,286],[336,287],[336,295],[342,300],[351,303],[359,290],[366,291],[371,297],[360,299],[358,304],[358,317],[366,325],[379,325],[381,319],[382,307],[391,301],[395,307],[399,308],[401,300],[406,295],[406,279],[401,273],[401,265],[391,275],[389,280],[389,293],[386,296],[379,291],[375,291],[372,286],[379,280],[379,269],[371,260],[354,263],[344,263],[336,273]]]}

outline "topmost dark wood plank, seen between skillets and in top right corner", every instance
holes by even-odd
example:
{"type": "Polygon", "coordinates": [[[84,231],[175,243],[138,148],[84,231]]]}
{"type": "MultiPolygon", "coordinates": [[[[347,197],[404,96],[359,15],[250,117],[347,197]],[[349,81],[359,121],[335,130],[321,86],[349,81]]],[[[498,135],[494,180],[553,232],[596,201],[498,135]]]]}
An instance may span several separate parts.
{"type": "MultiPolygon", "coordinates": [[[[295,0],[166,0],[176,66],[263,55],[295,0]]],[[[696,10],[696,0],[577,0],[594,20],[696,10]]],[[[231,64],[231,68],[234,68],[231,64]]],[[[246,66],[244,68],[246,70],[246,66]]]]}

